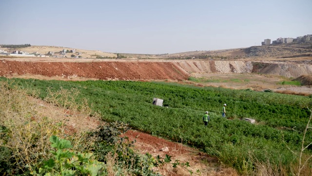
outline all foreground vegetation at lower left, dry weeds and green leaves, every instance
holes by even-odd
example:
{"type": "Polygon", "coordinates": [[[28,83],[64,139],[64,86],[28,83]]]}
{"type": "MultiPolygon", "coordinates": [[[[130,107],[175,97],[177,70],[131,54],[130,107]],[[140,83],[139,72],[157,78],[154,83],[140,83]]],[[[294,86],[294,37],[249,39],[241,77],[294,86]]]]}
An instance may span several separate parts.
{"type": "Polygon", "coordinates": [[[165,164],[193,173],[188,163],[168,155],[135,152],[134,142],[120,137],[129,130],[125,123],[98,122],[92,128],[97,115],[90,116],[86,104],[73,101],[76,89],[48,92],[44,100],[59,106],[56,112],[38,105],[28,93],[0,82],[1,176],[160,176],[152,169],[165,164]]]}

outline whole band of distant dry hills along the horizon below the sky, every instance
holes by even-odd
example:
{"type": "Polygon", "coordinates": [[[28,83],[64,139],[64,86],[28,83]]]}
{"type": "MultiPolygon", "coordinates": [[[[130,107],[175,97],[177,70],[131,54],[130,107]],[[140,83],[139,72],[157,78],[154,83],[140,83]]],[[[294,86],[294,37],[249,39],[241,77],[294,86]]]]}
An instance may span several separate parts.
{"type": "MultiPolygon", "coordinates": [[[[48,55],[48,52],[54,52],[53,57],[71,57],[71,55],[82,58],[104,59],[117,58],[116,53],[102,52],[98,50],[85,50],[68,48],[62,46],[29,46],[24,48],[1,48],[8,52],[22,50],[28,53],[48,55]],[[61,55],[61,50],[75,49],[76,53],[66,53],[61,55]],[[79,54],[78,54],[79,53],[79,54]]],[[[213,59],[213,60],[235,60],[235,59],[278,59],[278,58],[297,58],[312,56],[312,41],[306,43],[290,43],[269,46],[251,46],[248,48],[234,48],[222,50],[203,50],[188,51],[173,54],[128,54],[118,53],[121,58],[135,59],[213,59]]]]}

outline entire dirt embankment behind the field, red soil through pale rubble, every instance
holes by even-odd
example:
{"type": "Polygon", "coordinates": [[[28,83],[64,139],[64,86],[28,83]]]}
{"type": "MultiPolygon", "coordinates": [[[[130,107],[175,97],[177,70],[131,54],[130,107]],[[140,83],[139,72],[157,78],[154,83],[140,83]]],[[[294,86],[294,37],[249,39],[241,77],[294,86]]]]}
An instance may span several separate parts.
{"type": "Polygon", "coordinates": [[[262,73],[297,78],[312,75],[312,63],[207,60],[3,59],[0,76],[42,75],[100,80],[186,80],[193,73],[262,73]]]}

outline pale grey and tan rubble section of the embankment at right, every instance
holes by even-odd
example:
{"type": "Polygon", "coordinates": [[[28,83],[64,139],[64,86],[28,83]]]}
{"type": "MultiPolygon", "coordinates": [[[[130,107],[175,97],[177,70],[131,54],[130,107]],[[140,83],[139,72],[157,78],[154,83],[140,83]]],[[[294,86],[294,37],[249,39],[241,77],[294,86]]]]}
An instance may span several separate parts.
{"type": "Polygon", "coordinates": [[[297,78],[312,75],[311,64],[273,61],[176,61],[189,73],[262,73],[297,78]]]}

